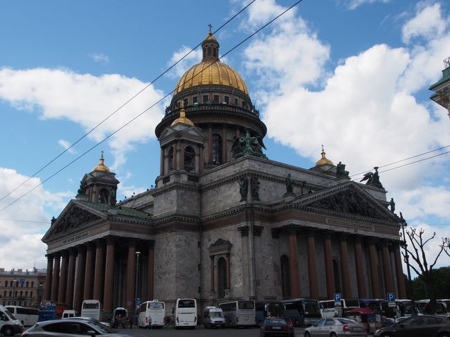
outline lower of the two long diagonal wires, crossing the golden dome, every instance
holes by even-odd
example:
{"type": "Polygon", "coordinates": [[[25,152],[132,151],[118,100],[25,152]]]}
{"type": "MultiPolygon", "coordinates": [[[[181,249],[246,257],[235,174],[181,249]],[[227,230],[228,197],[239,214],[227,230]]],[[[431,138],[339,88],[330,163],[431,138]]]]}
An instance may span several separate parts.
{"type": "MultiPolygon", "coordinates": [[[[298,5],[298,3],[302,2],[303,0],[298,0],[296,1],[296,3],[294,3],[292,6],[290,6],[289,8],[287,8],[286,10],[284,10],[283,12],[281,12],[279,15],[277,15],[275,18],[271,19],[269,22],[267,22],[267,24],[264,24],[264,26],[262,26],[261,28],[259,28],[258,30],[256,30],[253,34],[249,35],[248,37],[246,37],[245,39],[243,39],[239,44],[235,45],[233,48],[231,48],[229,51],[227,51],[226,53],[224,53],[224,55],[222,55],[221,57],[218,57],[217,60],[215,60],[215,62],[217,62],[218,60],[222,59],[222,57],[225,57],[226,55],[228,55],[229,53],[231,53],[231,51],[234,51],[235,48],[237,48],[238,46],[241,46],[242,44],[244,44],[244,42],[246,42],[248,39],[250,39],[251,37],[253,37],[254,35],[256,35],[257,33],[259,33],[262,29],[266,28],[267,26],[269,26],[269,24],[271,24],[273,21],[276,21],[276,19],[280,18],[282,15],[284,15],[286,12],[288,12],[289,10],[291,10],[292,8],[294,8],[295,6],[298,5]]],[[[247,6],[248,7],[248,6],[247,6]]],[[[201,71],[199,71],[199,73],[206,71],[206,69],[208,69],[210,66],[212,66],[213,64],[215,64],[215,62],[211,62],[211,64],[209,66],[204,67],[204,69],[202,69],[201,71]]],[[[195,75],[192,75],[192,78],[195,78],[195,76],[199,75],[199,73],[196,73],[195,75]]],[[[191,79],[192,79],[191,78],[191,79]]],[[[190,79],[189,79],[190,80],[190,79]]],[[[179,86],[181,86],[183,84],[179,84],[179,86]]],[[[39,185],[36,185],[34,188],[32,188],[31,190],[29,190],[28,192],[26,192],[25,194],[22,194],[19,198],[15,199],[14,201],[10,202],[8,205],[6,205],[5,207],[1,208],[0,212],[2,212],[3,210],[6,210],[6,208],[10,207],[12,204],[14,204],[15,202],[19,201],[20,199],[22,199],[23,197],[25,197],[27,194],[29,194],[30,192],[33,192],[33,190],[35,190],[36,188],[38,188],[39,186],[43,185],[44,183],[46,183],[46,181],[50,180],[53,178],[53,176],[59,174],[60,172],[62,172],[62,170],[65,170],[66,167],[69,167],[70,165],[72,165],[73,163],[75,163],[75,161],[78,161],[78,159],[82,158],[85,154],[91,152],[93,149],[95,149],[96,147],[98,147],[98,145],[104,143],[106,140],[108,140],[109,138],[111,138],[111,136],[114,136],[114,134],[116,134],[118,131],[120,131],[121,129],[123,129],[124,127],[126,127],[127,125],[129,125],[131,122],[133,122],[134,120],[136,120],[137,118],[139,118],[140,116],[142,116],[145,112],[149,111],[150,109],[152,109],[152,107],[156,106],[156,104],[159,104],[160,102],[162,102],[163,100],[165,100],[165,98],[168,98],[170,95],[172,95],[172,93],[174,93],[174,91],[177,91],[177,89],[179,88],[179,86],[177,86],[175,89],[173,89],[172,91],[170,91],[170,93],[168,93],[167,95],[165,95],[163,98],[161,98],[160,100],[158,100],[157,102],[155,102],[154,104],[152,104],[150,107],[148,107],[147,109],[145,109],[144,111],[142,111],[141,113],[139,113],[138,115],[134,116],[134,118],[132,118],[131,120],[129,120],[128,122],[126,122],[124,125],[122,125],[121,127],[119,127],[118,129],[116,129],[116,131],[113,131],[111,134],[109,134],[109,136],[106,136],[105,138],[103,138],[102,140],[100,140],[100,142],[98,142],[96,145],[93,145],[92,147],[90,147],[86,152],[84,152],[83,154],[81,154],[80,156],[78,156],[77,158],[75,158],[73,161],[69,162],[67,165],[65,165],[64,167],[62,167],[60,170],[57,170],[57,172],[55,172],[54,174],[52,174],[51,176],[49,176],[47,179],[45,179],[44,181],[42,181],[41,183],[39,183],[39,185]]]]}

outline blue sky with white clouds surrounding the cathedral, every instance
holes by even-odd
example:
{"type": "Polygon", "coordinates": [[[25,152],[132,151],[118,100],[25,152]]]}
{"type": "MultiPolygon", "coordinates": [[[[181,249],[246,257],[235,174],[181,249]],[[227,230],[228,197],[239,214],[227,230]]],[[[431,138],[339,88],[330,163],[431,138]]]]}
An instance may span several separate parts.
{"type": "MultiPolygon", "coordinates": [[[[250,2],[0,2],[0,268],[46,267],[41,239],[101,151],[118,199],[154,185],[154,129],[199,48],[161,73],[250,2]]],[[[323,145],[356,181],[379,166],[397,215],[435,233],[432,262],[450,232],[450,118],[428,88],[450,57],[450,3],[303,0],[240,44],[294,3],[256,0],[215,33],[268,158],[309,168],[323,145]]]]}

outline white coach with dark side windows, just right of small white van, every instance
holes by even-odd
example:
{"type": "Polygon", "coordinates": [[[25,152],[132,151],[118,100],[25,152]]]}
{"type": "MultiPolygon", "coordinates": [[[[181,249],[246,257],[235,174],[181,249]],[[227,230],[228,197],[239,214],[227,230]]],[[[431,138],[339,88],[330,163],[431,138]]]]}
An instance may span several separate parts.
{"type": "Polygon", "coordinates": [[[219,304],[224,311],[227,327],[252,327],[256,325],[255,301],[236,300],[219,304]]]}

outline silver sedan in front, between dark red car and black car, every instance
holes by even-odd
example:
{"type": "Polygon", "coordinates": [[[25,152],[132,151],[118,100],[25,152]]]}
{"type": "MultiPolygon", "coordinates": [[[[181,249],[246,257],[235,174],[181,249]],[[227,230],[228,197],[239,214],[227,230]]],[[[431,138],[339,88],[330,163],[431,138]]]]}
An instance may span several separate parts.
{"type": "Polygon", "coordinates": [[[367,337],[365,325],[350,318],[322,318],[305,329],[305,337],[367,337]]]}

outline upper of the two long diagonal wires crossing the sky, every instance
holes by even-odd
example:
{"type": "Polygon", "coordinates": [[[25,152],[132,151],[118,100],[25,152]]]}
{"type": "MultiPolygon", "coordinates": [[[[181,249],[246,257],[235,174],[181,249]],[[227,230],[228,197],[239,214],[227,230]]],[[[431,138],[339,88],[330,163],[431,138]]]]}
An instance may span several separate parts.
{"type": "MultiPolygon", "coordinates": [[[[244,10],[246,10],[246,8],[248,8],[253,2],[255,2],[256,0],[252,0],[249,4],[247,4],[246,6],[244,6],[244,8],[242,8],[239,12],[237,12],[235,15],[233,15],[233,17],[231,17],[230,19],[228,19],[224,24],[222,24],[222,26],[220,26],[219,28],[217,28],[214,32],[213,35],[215,33],[217,33],[219,30],[221,30],[222,28],[224,28],[224,26],[226,26],[228,23],[230,23],[231,20],[235,19],[235,17],[237,17],[238,15],[240,15],[242,12],[244,12],[244,10]]],[[[168,71],[170,71],[174,66],[176,66],[177,64],[179,64],[179,62],[181,62],[182,60],[184,60],[186,57],[188,57],[188,55],[190,53],[192,53],[193,51],[195,51],[195,49],[197,49],[199,46],[201,46],[201,44],[203,42],[205,42],[206,39],[204,39],[202,42],[200,42],[199,44],[197,44],[197,46],[195,46],[194,48],[192,48],[188,53],[186,53],[183,57],[181,57],[181,59],[179,59],[177,62],[175,62],[174,64],[172,64],[172,66],[170,66],[168,69],[166,69],[163,73],[159,74],[154,80],[152,80],[152,82],[150,82],[149,84],[147,84],[146,86],[143,87],[143,89],[141,89],[140,91],[138,91],[136,94],[134,94],[132,96],[132,98],[129,98],[129,100],[127,100],[125,103],[123,103],[122,105],[120,105],[120,107],[118,107],[118,109],[116,109],[113,113],[109,114],[109,116],[107,116],[105,119],[103,119],[101,122],[99,122],[95,127],[93,127],[92,129],[90,129],[86,134],[84,134],[83,136],[81,136],[80,138],[78,138],[78,140],[75,141],[75,143],[73,143],[71,146],[67,147],[63,152],[61,152],[60,154],[58,154],[57,156],[55,156],[55,158],[53,158],[51,161],[49,161],[48,163],[46,163],[46,165],[44,165],[44,167],[42,167],[41,169],[39,169],[37,172],[35,172],[32,176],[29,176],[28,179],[26,179],[24,182],[22,182],[20,185],[18,185],[14,190],[11,190],[10,192],[8,192],[7,194],[5,194],[3,197],[1,197],[0,202],[5,199],[6,197],[8,197],[8,195],[10,195],[12,192],[15,192],[15,190],[17,190],[18,188],[20,188],[22,185],[24,185],[25,183],[27,183],[30,179],[32,179],[33,177],[35,177],[37,174],[39,174],[39,172],[41,172],[42,170],[44,170],[46,167],[48,167],[48,165],[50,165],[51,163],[53,163],[54,161],[57,160],[57,158],[60,158],[60,156],[62,156],[63,154],[65,154],[66,152],[69,151],[69,149],[71,149],[72,147],[74,147],[76,144],[80,143],[80,141],[84,138],[86,138],[89,134],[91,134],[92,131],[94,131],[95,129],[97,129],[98,127],[100,127],[100,125],[102,125],[104,122],[106,122],[109,118],[111,118],[112,116],[114,116],[114,114],[116,114],[118,111],[120,111],[123,107],[125,107],[125,105],[127,105],[129,102],[131,102],[132,100],[134,100],[134,98],[136,98],[138,95],[140,95],[141,93],[143,93],[143,91],[145,91],[145,89],[147,89],[149,86],[151,86],[152,84],[154,84],[154,82],[156,82],[156,80],[159,80],[163,75],[165,75],[165,73],[168,73],[168,71]]],[[[173,92],[173,91],[172,91],[173,92]]],[[[167,97],[167,96],[166,96],[167,97]]]]}

